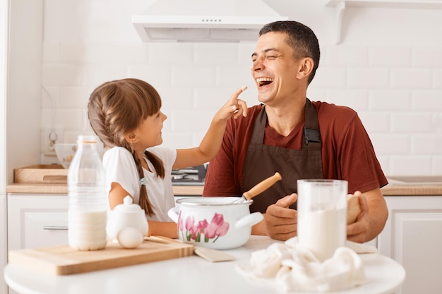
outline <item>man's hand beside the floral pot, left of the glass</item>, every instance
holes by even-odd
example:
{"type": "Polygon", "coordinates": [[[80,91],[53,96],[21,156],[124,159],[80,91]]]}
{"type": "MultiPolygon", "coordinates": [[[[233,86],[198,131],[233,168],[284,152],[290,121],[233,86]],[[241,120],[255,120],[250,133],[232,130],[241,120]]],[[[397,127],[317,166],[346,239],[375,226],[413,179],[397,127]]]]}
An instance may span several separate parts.
{"type": "Polygon", "coordinates": [[[297,235],[298,212],[289,208],[297,199],[296,194],[287,195],[267,208],[264,221],[270,238],[285,241],[297,235]]]}

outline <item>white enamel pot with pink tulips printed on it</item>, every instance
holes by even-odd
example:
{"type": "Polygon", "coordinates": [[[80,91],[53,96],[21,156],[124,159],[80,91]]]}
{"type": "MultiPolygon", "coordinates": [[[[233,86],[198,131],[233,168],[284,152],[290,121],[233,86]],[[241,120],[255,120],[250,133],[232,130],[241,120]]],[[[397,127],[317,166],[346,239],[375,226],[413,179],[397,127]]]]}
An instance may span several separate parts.
{"type": "Polygon", "coordinates": [[[177,223],[179,239],[212,249],[232,249],[249,240],[251,227],[263,220],[250,213],[253,200],[232,203],[237,197],[189,197],[177,200],[169,217],[177,223]]]}

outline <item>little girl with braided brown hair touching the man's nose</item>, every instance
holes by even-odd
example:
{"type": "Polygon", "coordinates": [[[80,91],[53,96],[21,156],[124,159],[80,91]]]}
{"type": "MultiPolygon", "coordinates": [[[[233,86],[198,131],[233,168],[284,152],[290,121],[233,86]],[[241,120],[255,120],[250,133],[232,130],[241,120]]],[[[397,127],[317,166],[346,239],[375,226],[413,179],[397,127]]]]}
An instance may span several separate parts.
{"type": "Polygon", "coordinates": [[[177,238],[177,224],[167,216],[175,206],[172,169],[210,161],[220,149],[227,119],[246,116],[242,87],[217,111],[199,147],[171,149],[162,144],[160,94],[147,82],[133,78],[105,82],[90,95],[88,117],[104,147],[109,209],[130,195],[145,210],[148,235],[177,238]]]}

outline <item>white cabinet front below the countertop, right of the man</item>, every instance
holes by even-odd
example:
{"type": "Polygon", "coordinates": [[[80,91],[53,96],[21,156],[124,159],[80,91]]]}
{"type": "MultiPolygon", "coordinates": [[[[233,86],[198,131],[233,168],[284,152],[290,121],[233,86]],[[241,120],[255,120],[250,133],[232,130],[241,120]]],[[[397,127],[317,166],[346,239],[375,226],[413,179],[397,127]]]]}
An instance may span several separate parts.
{"type": "Polygon", "coordinates": [[[442,293],[442,196],[389,196],[378,250],[402,264],[400,294],[442,293]]]}

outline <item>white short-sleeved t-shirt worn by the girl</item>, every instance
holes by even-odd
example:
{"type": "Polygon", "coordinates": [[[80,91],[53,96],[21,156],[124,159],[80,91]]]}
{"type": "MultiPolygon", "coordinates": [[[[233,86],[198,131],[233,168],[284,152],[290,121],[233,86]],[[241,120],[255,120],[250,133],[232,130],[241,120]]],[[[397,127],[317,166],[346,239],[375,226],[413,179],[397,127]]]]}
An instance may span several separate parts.
{"type": "MultiPolygon", "coordinates": [[[[149,152],[157,155],[165,166],[165,178],[157,176],[153,164],[144,158],[148,163],[150,171],[143,168],[144,176],[148,180],[145,185],[150,203],[155,207],[155,215],[146,217],[150,221],[172,221],[167,212],[175,207],[174,192],[172,189],[172,166],[177,158],[177,150],[167,147],[150,147],[149,152]]],[[[103,165],[106,170],[106,195],[109,195],[112,183],[119,183],[133,197],[133,203],[138,204],[140,200],[140,176],[136,169],[135,161],[131,152],[124,147],[113,147],[103,156],[103,165]]],[[[108,208],[109,207],[109,201],[108,208]]]]}

